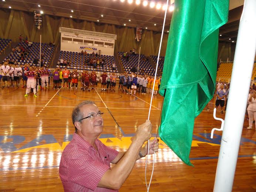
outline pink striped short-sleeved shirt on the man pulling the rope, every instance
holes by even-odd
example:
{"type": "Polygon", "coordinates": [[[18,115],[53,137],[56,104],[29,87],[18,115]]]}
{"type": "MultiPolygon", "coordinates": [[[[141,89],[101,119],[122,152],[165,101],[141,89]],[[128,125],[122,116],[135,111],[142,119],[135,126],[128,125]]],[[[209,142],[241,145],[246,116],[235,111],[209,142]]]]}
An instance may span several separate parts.
{"type": "Polygon", "coordinates": [[[110,162],[118,151],[108,148],[96,139],[98,152],[87,141],[74,133],[60,160],[60,179],[65,192],[118,192],[97,187],[102,176],[110,169],[110,162]]]}

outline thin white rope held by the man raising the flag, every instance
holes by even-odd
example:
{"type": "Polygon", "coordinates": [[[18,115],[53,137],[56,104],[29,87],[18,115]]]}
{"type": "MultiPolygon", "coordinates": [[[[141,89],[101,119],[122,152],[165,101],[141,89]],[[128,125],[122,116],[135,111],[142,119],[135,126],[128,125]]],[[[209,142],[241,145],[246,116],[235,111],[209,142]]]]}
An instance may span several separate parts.
{"type": "MultiPolygon", "coordinates": [[[[150,107],[149,107],[149,111],[148,111],[148,120],[149,120],[149,117],[150,117],[150,111],[151,111],[152,100],[153,100],[153,94],[154,94],[154,88],[155,88],[156,73],[157,73],[158,62],[159,62],[159,57],[160,57],[160,51],[161,51],[161,46],[162,46],[162,40],[163,40],[163,35],[164,35],[165,18],[166,18],[166,13],[167,13],[167,9],[168,9],[168,1],[169,1],[169,0],[166,1],[165,17],[164,17],[164,23],[163,23],[163,28],[162,28],[161,40],[160,40],[159,51],[158,51],[158,57],[157,57],[157,62],[156,62],[155,79],[154,79],[154,83],[153,83],[153,90],[152,90],[152,94],[151,94],[150,107]]],[[[159,125],[158,125],[158,126],[159,126],[159,125]]],[[[156,134],[156,138],[157,138],[157,134],[156,134]]],[[[149,154],[149,140],[148,140],[148,153],[147,153],[147,154],[149,154]]],[[[147,168],[147,164],[148,164],[148,155],[146,156],[145,182],[146,182],[147,192],[149,192],[149,188],[150,188],[150,184],[151,184],[152,176],[153,176],[153,172],[154,172],[155,152],[154,152],[153,168],[152,168],[152,172],[151,172],[151,177],[150,177],[149,184],[148,184],[147,181],[146,181],[146,168],[147,168]]]]}

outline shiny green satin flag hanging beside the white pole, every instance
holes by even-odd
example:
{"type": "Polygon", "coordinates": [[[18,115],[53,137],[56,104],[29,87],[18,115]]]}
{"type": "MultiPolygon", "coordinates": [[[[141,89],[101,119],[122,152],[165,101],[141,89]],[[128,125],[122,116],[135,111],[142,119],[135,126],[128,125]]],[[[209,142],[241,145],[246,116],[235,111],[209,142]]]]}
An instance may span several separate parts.
{"type": "Polygon", "coordinates": [[[219,27],[229,0],[175,0],[159,93],[164,98],[160,138],[192,165],[195,118],[215,91],[219,27]]]}

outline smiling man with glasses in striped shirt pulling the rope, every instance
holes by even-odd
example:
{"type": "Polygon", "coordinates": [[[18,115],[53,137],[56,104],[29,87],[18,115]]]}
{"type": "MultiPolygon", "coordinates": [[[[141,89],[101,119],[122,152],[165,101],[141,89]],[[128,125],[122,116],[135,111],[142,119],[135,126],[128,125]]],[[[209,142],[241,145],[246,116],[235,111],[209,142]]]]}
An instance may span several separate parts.
{"type": "MultiPolygon", "coordinates": [[[[81,102],[72,112],[76,131],[63,151],[59,168],[65,192],[117,192],[135,162],[147,155],[148,145],[142,145],[151,138],[150,121],[137,128],[126,152],[117,152],[97,139],[103,131],[102,114],[92,101],[81,102]],[[110,163],[116,165],[110,169],[110,163]]],[[[158,140],[150,141],[148,154],[158,148],[158,140]]]]}

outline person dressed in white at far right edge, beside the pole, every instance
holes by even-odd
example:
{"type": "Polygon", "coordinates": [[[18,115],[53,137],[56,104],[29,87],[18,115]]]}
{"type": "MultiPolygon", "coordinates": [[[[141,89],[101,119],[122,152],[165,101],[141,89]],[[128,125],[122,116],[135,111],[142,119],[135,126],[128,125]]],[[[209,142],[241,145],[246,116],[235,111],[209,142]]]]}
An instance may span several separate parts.
{"type": "MultiPolygon", "coordinates": [[[[252,129],[253,119],[256,120],[256,91],[252,90],[248,97],[249,106],[247,107],[247,112],[249,115],[249,127],[247,129],[252,129]]],[[[256,130],[256,121],[255,121],[256,130]]]]}

